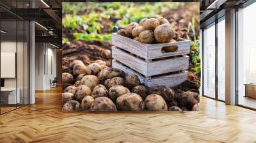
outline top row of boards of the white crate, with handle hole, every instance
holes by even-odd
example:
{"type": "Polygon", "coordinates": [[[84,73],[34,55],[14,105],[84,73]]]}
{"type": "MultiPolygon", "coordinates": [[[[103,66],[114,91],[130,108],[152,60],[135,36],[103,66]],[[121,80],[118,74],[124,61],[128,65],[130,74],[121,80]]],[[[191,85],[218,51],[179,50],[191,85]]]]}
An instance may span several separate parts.
{"type": "Polygon", "coordinates": [[[177,41],[169,43],[158,43],[158,44],[145,44],[140,41],[132,40],[121,36],[117,33],[112,33],[112,44],[120,49],[124,49],[136,56],[142,57],[143,59],[156,59],[161,57],[170,57],[189,54],[190,52],[190,41],[177,41]],[[164,52],[164,47],[175,46],[177,50],[175,52],[164,52]]]}

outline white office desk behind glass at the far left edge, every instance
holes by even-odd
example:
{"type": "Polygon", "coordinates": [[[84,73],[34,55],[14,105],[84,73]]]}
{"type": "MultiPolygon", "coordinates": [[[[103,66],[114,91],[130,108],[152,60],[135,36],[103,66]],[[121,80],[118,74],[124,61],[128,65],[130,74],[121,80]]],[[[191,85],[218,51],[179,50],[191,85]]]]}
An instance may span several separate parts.
{"type": "Polygon", "coordinates": [[[4,104],[20,103],[20,89],[17,89],[18,94],[16,98],[16,88],[3,88],[1,89],[1,102],[4,104]]]}

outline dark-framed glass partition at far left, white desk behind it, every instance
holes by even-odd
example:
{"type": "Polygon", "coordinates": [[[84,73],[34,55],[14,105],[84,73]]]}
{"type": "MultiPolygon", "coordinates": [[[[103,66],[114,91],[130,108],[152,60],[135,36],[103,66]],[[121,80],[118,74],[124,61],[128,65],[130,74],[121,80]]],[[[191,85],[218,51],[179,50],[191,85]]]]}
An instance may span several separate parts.
{"type": "MultiPolygon", "coordinates": [[[[26,1],[0,1],[26,8],[26,1]]],[[[28,3],[28,1],[27,1],[28,3]]],[[[0,114],[29,103],[29,22],[0,7],[0,114]]]]}

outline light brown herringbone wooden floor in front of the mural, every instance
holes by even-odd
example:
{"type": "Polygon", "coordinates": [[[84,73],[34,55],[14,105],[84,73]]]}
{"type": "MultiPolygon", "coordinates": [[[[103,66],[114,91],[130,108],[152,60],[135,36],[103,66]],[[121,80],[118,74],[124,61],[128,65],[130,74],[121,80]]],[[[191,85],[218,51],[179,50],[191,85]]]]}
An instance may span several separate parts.
{"type": "Polygon", "coordinates": [[[256,142],[256,112],[202,98],[199,112],[61,111],[60,88],[0,116],[0,142],[256,142]]]}

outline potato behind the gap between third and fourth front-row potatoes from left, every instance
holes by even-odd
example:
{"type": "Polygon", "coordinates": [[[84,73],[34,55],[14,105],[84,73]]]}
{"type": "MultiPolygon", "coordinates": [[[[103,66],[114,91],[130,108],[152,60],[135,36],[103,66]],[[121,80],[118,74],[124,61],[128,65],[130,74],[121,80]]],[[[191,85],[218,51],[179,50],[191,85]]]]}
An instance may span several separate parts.
{"type": "Polygon", "coordinates": [[[109,98],[111,98],[113,102],[116,102],[116,98],[126,93],[130,93],[130,90],[124,86],[112,86],[108,90],[109,98]]]}

